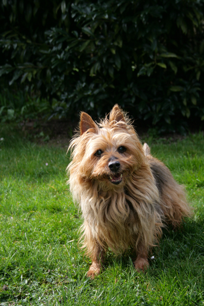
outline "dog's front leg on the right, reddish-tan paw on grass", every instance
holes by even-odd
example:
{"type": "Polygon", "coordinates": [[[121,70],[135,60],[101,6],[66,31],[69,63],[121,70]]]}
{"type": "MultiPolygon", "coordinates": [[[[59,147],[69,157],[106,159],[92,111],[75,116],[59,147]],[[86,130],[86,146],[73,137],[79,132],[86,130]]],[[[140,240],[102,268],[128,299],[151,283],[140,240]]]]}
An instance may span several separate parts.
{"type": "Polygon", "coordinates": [[[133,261],[135,269],[144,272],[148,266],[148,249],[141,242],[137,247],[137,258],[133,261]]]}

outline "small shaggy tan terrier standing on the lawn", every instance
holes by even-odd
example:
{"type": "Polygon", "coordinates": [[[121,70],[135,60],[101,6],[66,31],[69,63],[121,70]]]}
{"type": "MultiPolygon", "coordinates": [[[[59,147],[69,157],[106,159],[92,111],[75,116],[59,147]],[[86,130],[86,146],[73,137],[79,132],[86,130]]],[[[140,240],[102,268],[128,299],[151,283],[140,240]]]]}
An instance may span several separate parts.
{"type": "Polygon", "coordinates": [[[162,226],[179,226],[191,214],[182,186],[150,155],[148,145],[142,146],[118,105],[98,124],[82,112],[79,133],[69,148],[70,191],[80,203],[82,247],[92,260],[87,276],[100,273],[108,248],[118,254],[129,246],[137,256],[135,269],[144,271],[162,226]]]}

